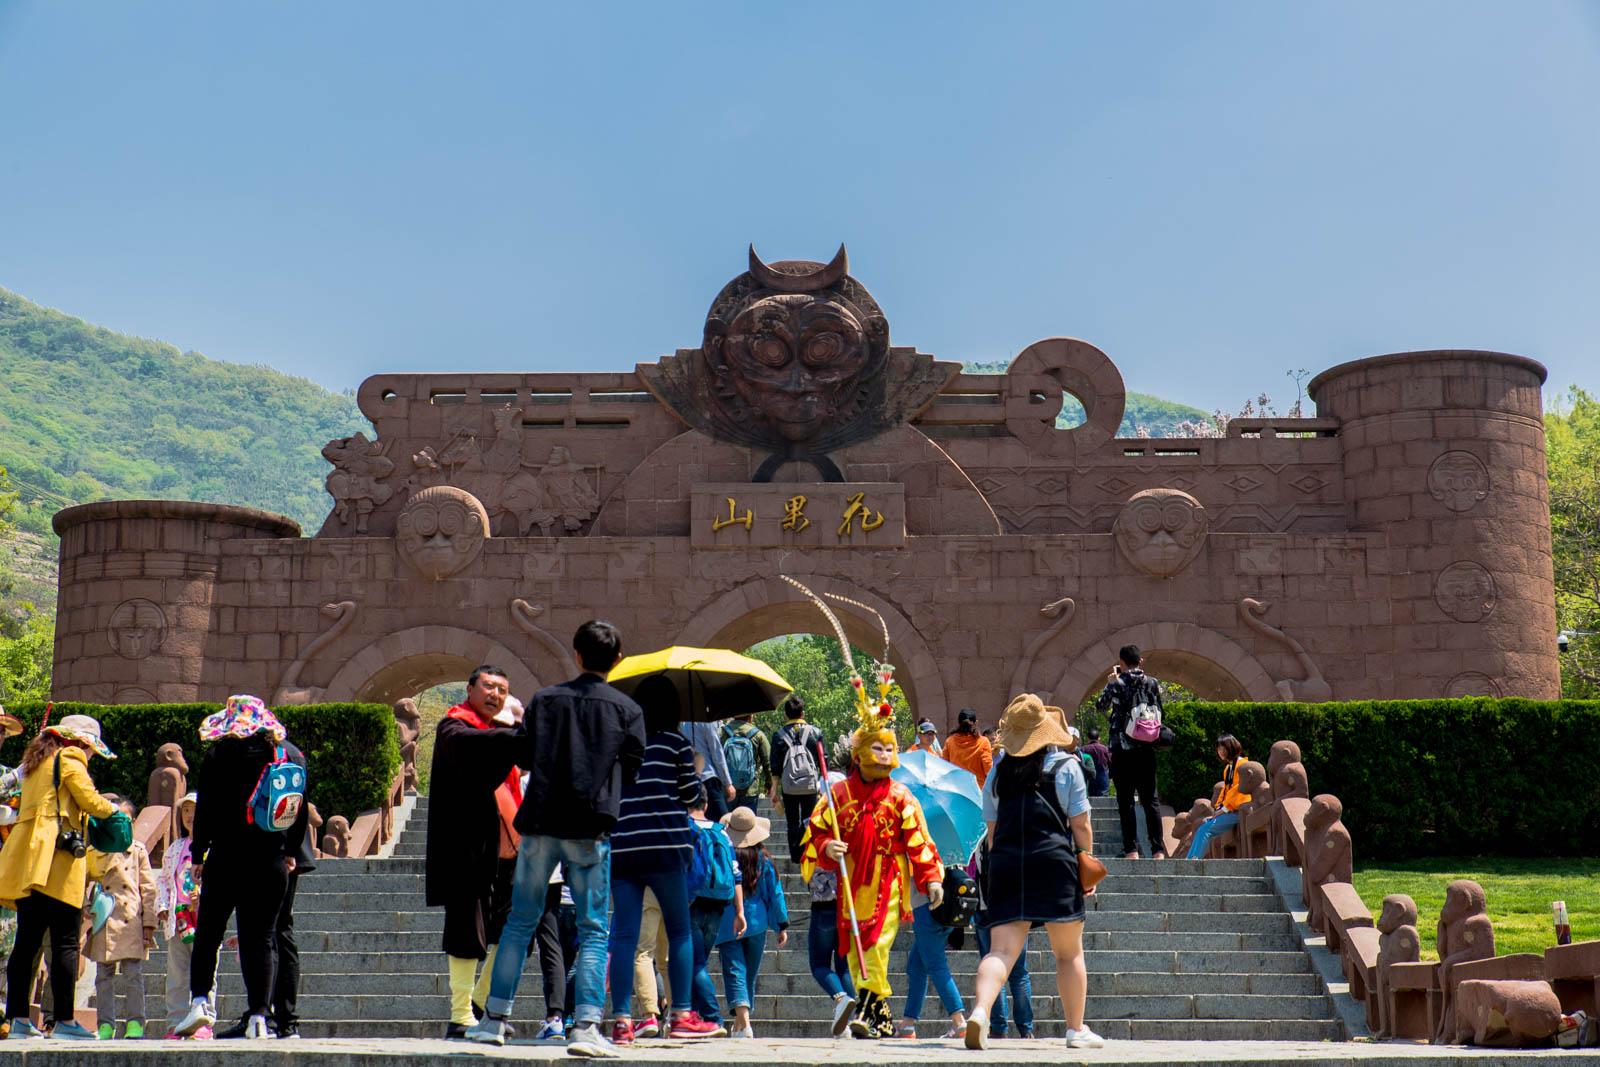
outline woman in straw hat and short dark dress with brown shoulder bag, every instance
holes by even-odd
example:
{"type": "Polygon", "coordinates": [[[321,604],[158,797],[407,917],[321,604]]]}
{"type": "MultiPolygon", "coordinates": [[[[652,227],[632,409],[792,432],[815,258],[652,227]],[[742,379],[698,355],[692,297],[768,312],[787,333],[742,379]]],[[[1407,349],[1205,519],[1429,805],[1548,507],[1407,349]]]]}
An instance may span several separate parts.
{"type": "Polygon", "coordinates": [[[1094,845],[1088,787],[1077,744],[1059,707],[1032,693],[1011,701],[1000,718],[1000,747],[984,782],[989,864],[982,885],[990,952],[978,965],[978,1003],[966,1019],[966,1048],[989,1040],[989,1009],[1027,934],[1043,925],[1056,955],[1056,987],[1067,1022],[1067,1048],[1101,1048],[1104,1040],[1083,1024],[1088,974],[1083,969],[1085,894],[1078,853],[1094,845]]]}

